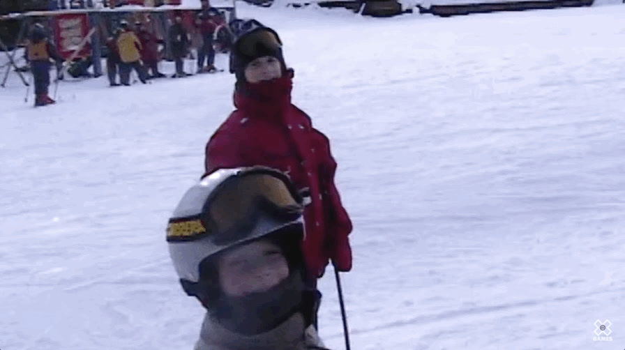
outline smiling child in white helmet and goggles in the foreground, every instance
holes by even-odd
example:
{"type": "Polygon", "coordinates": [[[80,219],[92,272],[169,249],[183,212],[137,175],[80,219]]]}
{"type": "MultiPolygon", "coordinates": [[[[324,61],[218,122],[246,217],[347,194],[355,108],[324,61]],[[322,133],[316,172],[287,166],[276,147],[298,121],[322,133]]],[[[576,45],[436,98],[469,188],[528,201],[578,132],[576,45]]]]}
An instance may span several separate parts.
{"type": "Polygon", "coordinates": [[[206,308],[195,350],[328,350],[305,287],[303,206],[266,167],[220,169],[183,195],[167,245],[183,290],[206,308]]]}

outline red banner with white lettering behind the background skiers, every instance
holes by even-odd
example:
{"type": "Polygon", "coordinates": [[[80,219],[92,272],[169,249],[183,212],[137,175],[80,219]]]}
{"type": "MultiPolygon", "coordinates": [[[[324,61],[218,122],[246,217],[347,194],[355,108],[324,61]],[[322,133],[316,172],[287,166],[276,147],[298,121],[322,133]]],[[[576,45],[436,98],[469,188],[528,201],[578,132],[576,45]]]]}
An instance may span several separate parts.
{"type": "MultiPolygon", "coordinates": [[[[54,41],[57,43],[59,54],[68,59],[87,33],[89,33],[89,17],[86,14],[63,14],[54,16],[54,41]]],[[[86,43],[80,49],[78,57],[91,55],[91,45],[86,43]]]]}

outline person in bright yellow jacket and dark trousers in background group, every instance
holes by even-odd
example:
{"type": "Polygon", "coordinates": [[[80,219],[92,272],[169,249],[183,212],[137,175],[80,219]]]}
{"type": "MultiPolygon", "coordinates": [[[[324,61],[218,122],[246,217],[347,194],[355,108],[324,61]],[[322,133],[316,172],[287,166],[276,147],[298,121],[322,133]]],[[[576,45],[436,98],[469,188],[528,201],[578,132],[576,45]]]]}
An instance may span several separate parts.
{"type": "Polygon", "coordinates": [[[143,84],[146,84],[145,69],[141,61],[141,41],[130,30],[128,22],[122,20],[119,23],[121,33],[117,37],[117,49],[121,63],[119,64],[119,77],[121,84],[130,85],[130,70],[134,69],[143,84]]]}

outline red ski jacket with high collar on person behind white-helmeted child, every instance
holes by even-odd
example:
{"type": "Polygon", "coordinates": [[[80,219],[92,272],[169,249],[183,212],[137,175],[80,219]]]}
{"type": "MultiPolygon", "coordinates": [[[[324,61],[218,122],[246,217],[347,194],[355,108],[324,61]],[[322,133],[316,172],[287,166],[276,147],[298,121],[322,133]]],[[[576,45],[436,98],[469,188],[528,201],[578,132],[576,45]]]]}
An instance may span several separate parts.
{"type": "Polygon", "coordinates": [[[334,184],[336,161],[326,135],[291,103],[292,71],[280,79],[243,83],[234,93],[236,110],[206,144],[206,174],[221,168],[264,165],[309,188],[302,249],[310,277],[321,277],[329,259],[339,271],[352,268],[347,235],[352,222],[334,184]]]}

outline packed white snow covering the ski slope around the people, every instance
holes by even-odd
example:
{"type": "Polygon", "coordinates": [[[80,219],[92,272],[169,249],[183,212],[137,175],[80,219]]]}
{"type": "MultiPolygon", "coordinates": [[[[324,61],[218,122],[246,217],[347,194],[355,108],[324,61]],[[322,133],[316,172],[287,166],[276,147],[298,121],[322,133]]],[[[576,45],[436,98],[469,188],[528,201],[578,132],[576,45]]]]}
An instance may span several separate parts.
{"type": "MultiPolygon", "coordinates": [[[[625,6],[237,11],[280,33],[294,102],[331,139],[354,221],[352,349],[625,348],[625,6]]],[[[11,73],[0,349],[193,348],[203,310],[165,225],[233,84],[68,79],[57,105],[33,108],[11,73]]],[[[320,289],[320,333],[344,349],[330,268],[320,289]]]]}

